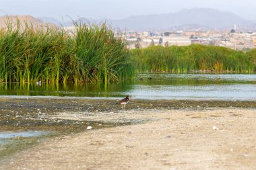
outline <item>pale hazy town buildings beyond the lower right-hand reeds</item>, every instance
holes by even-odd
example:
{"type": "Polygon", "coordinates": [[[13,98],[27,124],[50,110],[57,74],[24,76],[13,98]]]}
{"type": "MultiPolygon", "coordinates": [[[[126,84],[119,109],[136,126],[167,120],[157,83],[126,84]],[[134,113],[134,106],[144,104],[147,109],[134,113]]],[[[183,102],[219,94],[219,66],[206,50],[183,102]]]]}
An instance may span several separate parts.
{"type": "MultiPolygon", "coordinates": [[[[70,30],[73,30],[69,28],[70,30]]],[[[179,29],[177,29],[179,30],[179,29]]],[[[227,48],[243,50],[256,48],[256,32],[236,32],[230,30],[164,30],[163,32],[124,32],[123,39],[127,40],[129,48],[146,48],[152,44],[162,46],[188,46],[203,44],[225,46],[227,48]]],[[[70,32],[70,31],[69,31],[70,32]]]]}

